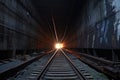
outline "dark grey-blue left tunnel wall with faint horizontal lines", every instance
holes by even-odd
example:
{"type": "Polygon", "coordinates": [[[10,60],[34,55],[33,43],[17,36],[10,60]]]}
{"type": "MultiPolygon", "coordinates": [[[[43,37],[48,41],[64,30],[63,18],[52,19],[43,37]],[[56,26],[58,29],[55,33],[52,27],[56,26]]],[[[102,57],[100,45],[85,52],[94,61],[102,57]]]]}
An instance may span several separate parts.
{"type": "Polygon", "coordinates": [[[37,18],[29,0],[0,0],[0,59],[37,49],[37,18]]]}

